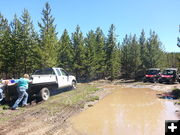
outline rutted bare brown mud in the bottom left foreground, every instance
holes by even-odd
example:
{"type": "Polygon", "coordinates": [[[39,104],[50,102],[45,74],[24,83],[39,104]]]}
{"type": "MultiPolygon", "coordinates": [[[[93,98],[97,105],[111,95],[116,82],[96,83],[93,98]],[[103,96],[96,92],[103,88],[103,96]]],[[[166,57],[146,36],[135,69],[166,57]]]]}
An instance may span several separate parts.
{"type": "Polygon", "coordinates": [[[61,130],[63,123],[78,110],[63,107],[55,116],[49,117],[45,110],[26,112],[12,119],[0,128],[0,135],[55,134],[61,130]]]}

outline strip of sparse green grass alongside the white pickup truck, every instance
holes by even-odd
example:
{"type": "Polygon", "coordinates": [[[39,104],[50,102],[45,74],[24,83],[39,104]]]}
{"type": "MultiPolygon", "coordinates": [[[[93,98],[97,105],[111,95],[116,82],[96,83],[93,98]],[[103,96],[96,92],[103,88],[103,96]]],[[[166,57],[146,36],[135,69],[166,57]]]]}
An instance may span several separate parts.
{"type": "Polygon", "coordinates": [[[35,106],[30,106],[28,108],[21,108],[16,111],[6,110],[9,108],[8,105],[0,105],[0,122],[7,122],[12,118],[21,115],[24,112],[40,112],[42,115],[48,114],[53,116],[60,113],[64,107],[74,107],[79,106],[80,108],[84,107],[85,102],[98,100],[99,97],[90,96],[94,92],[99,90],[95,85],[91,84],[78,84],[77,89],[69,90],[51,96],[48,101],[39,103],[35,106]]]}

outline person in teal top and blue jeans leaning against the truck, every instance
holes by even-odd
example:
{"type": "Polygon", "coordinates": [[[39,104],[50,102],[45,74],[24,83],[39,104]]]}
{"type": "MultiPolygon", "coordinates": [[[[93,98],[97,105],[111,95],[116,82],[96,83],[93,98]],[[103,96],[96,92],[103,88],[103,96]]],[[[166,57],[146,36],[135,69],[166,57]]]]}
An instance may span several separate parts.
{"type": "Polygon", "coordinates": [[[20,78],[20,79],[15,81],[15,84],[17,84],[18,99],[16,100],[16,102],[14,103],[14,105],[12,107],[13,110],[18,109],[19,103],[22,100],[23,100],[22,106],[27,105],[27,100],[28,100],[27,89],[28,89],[28,85],[30,82],[31,82],[31,80],[29,80],[28,74],[24,74],[23,78],[20,78]]]}

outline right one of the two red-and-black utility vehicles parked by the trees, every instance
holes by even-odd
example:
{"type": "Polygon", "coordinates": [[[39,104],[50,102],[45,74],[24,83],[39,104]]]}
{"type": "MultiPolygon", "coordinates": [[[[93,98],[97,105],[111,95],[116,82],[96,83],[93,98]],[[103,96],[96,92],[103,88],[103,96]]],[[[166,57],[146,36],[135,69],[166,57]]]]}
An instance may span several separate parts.
{"type": "Polygon", "coordinates": [[[163,70],[161,77],[159,79],[159,83],[175,83],[179,82],[179,75],[178,75],[178,69],[177,68],[167,68],[163,70]]]}

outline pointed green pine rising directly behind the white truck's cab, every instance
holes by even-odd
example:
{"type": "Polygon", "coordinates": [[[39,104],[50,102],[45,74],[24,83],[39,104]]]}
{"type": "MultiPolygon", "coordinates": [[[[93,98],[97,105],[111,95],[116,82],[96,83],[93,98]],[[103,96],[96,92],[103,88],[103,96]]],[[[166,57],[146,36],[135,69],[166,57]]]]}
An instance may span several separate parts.
{"type": "Polygon", "coordinates": [[[65,29],[61,39],[59,41],[58,47],[58,65],[63,67],[69,72],[72,72],[72,62],[73,62],[73,48],[70,37],[67,30],[65,29]]]}

